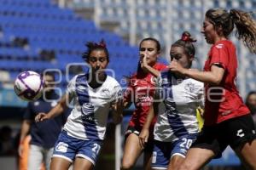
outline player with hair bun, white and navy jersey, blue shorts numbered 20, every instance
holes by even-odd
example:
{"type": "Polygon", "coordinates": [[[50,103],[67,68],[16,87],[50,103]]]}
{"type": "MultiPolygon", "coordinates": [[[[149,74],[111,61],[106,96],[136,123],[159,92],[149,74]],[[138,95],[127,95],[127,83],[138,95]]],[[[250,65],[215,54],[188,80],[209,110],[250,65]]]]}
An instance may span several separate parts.
{"type": "MultiPolygon", "coordinates": [[[[188,31],[183,32],[182,38],[172,44],[171,62],[177,62],[189,69],[195,57],[195,47],[192,43],[195,41],[188,31]]],[[[204,106],[204,85],[192,78],[172,73],[170,70],[160,72],[157,84],[154,99],[162,100],[162,103],[154,103],[154,106],[150,107],[139,138],[142,144],[148,141],[148,127],[154,114],[158,113],[157,122],[154,125],[151,167],[174,170],[183,162],[187,150],[199,132],[196,109],[204,106]],[[163,108],[160,109],[160,107],[163,108]]]]}

